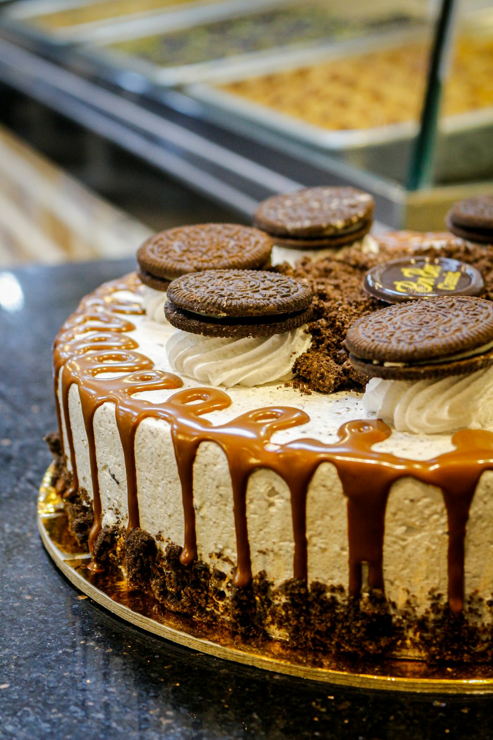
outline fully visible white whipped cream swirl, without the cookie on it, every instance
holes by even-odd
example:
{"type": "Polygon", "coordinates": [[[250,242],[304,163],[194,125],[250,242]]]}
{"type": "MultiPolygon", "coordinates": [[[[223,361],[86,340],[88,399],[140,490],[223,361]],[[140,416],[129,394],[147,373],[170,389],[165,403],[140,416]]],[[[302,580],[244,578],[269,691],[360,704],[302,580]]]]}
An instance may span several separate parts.
{"type": "Polygon", "coordinates": [[[177,329],[166,342],[171,369],[211,386],[262,386],[293,378],[311,343],[307,325],[271,337],[204,337],[177,329]]]}

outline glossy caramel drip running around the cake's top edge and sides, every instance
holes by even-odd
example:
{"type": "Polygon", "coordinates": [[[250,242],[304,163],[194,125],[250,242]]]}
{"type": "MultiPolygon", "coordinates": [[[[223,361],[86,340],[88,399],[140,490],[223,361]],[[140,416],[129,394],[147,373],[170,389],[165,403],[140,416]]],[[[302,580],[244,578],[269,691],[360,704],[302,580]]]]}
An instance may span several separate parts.
{"type": "MultiPolygon", "coordinates": [[[[251,581],[251,554],[246,515],[247,488],[251,474],[261,468],[275,472],[290,490],[293,520],[293,576],[307,579],[306,505],[310,480],[322,462],[335,465],[347,497],[349,539],[349,591],[361,591],[361,564],[367,562],[370,588],[384,590],[383,550],[387,499],[392,483],[414,477],[443,491],[449,524],[449,604],[453,611],[463,608],[464,539],[469,508],[477,482],[485,470],[493,469],[493,434],[463,430],[452,437],[455,450],[432,460],[415,461],[373,450],[373,445],[390,436],[380,420],[356,420],[341,426],[333,444],[299,439],[282,445],[271,437],[309,421],[304,411],[273,406],[249,411],[220,425],[205,418],[211,411],[231,405],[231,399],[217,388],[182,388],[162,403],[135,398],[143,391],[176,390],[183,385],[174,374],[154,369],[152,360],[137,350],[132,337],[134,325],[118,314],[139,314],[138,303],[119,300],[113,293],[135,290],[133,277],[108,283],[84,299],[67,320],[55,342],[55,394],[61,372],[63,412],[72,486],[78,486],[75,446],[69,423],[69,389],[78,386],[84,426],[89,445],[95,521],[89,537],[93,549],[101,530],[101,494],[95,450],[94,417],[103,403],[115,405],[115,418],[126,466],[129,530],[139,525],[135,435],[146,418],[170,425],[183,497],[185,536],[180,561],[190,564],[197,557],[193,470],[201,443],[220,446],[228,460],[233,491],[234,524],[237,537],[237,570],[234,583],[243,587],[251,581]],[[117,377],[113,377],[114,374],[117,377]]],[[[58,403],[58,402],[57,402],[58,403]]]]}

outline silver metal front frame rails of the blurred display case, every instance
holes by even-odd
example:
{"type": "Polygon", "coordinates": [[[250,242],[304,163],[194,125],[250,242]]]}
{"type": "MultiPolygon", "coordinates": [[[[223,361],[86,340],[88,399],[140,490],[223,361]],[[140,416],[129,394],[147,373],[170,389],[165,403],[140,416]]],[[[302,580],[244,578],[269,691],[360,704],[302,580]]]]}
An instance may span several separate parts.
{"type": "Polygon", "coordinates": [[[373,193],[378,221],[435,228],[443,221],[432,223],[432,211],[436,221],[449,203],[478,192],[477,184],[408,192],[302,142],[287,144],[281,133],[259,139],[248,121],[232,129],[183,92],[18,28],[0,26],[0,81],[246,216],[278,192],[351,184],[373,193]]]}

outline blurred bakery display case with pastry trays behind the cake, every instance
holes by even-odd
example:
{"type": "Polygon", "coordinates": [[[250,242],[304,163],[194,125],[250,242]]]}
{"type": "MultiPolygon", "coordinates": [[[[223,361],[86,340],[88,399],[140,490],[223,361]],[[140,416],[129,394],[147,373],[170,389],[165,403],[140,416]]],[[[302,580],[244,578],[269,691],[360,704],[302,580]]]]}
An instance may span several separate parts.
{"type": "Polygon", "coordinates": [[[378,221],[441,228],[491,188],[481,0],[21,0],[0,19],[4,84],[244,216],[353,184],[378,221]]]}

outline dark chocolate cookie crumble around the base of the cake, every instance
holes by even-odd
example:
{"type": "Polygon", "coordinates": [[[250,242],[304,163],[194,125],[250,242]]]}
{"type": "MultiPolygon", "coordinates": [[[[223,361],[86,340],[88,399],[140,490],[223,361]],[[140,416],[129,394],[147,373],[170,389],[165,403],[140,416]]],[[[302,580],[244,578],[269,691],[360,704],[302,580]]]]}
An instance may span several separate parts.
{"type": "MultiPolygon", "coordinates": [[[[57,437],[47,437],[55,457],[52,485],[67,508],[70,474],[59,454],[57,437]]],[[[93,519],[90,501],[87,519],[93,519]]],[[[69,531],[86,545],[70,518],[69,531]]],[[[276,588],[265,571],[256,573],[247,587],[238,588],[232,562],[228,572],[200,559],[184,568],[180,545],[160,535],[156,539],[163,548],[157,548],[154,538],[141,528],[127,533],[118,526],[104,527],[95,553],[115,579],[119,581],[124,574],[130,588],[154,599],[157,614],[181,614],[198,625],[226,629],[239,641],[245,639],[257,647],[271,639],[269,630],[279,630],[288,634],[294,650],[301,650],[312,661],[319,659],[320,665],[324,656],[333,653],[368,662],[395,654],[406,657],[409,647],[430,663],[493,661],[493,625],[487,618],[492,603],[475,594],[466,598],[463,612],[456,614],[446,596],[435,591],[429,593],[429,608],[421,613],[412,594],[398,608],[377,588],[364,591],[359,598],[350,596],[342,585],[294,578],[276,588]]]]}

